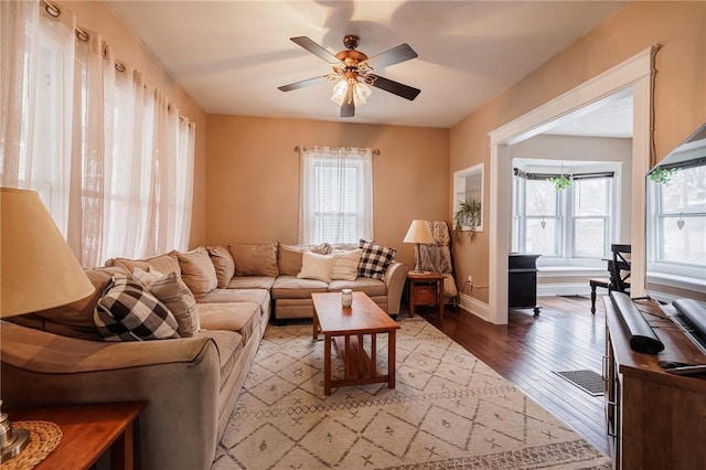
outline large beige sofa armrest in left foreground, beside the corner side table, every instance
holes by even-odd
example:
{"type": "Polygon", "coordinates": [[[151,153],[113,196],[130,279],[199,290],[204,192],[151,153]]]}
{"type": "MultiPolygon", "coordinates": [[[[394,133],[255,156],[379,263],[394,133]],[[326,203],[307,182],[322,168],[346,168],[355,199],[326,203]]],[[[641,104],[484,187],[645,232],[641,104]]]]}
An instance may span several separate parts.
{"type": "Polygon", "coordinates": [[[221,386],[213,339],[108,343],[4,321],[0,337],[8,408],[145,400],[136,456],[142,469],[211,466],[221,386]]]}

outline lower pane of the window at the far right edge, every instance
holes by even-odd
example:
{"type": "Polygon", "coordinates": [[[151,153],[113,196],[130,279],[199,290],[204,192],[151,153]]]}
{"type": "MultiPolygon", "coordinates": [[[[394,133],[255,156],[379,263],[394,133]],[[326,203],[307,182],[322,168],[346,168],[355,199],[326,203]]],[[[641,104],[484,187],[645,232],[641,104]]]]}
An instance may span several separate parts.
{"type": "Polygon", "coordinates": [[[706,216],[660,217],[660,261],[706,265],[706,216]]]}

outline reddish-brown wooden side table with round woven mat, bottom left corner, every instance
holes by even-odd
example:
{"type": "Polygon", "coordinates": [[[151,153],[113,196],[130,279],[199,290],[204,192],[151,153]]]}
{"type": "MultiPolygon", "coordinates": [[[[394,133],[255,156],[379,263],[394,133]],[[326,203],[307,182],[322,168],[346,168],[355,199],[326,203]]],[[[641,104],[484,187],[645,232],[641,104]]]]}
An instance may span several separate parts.
{"type": "Polygon", "coordinates": [[[35,470],[89,469],[110,448],[113,470],[135,468],[133,424],[145,408],[143,402],[71,405],[7,412],[13,423],[51,421],[63,437],[35,470]]]}

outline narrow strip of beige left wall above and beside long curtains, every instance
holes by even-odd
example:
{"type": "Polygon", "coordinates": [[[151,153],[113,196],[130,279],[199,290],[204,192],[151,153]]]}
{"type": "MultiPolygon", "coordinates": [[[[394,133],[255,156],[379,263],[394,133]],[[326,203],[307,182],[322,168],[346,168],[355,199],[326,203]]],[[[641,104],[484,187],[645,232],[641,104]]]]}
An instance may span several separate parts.
{"type": "Polygon", "coordinates": [[[206,115],[191,97],[167,74],[162,66],[145,49],[142,43],[100,1],[69,1],[56,3],[76,13],[76,25],[95,31],[110,44],[118,61],[129,63],[140,71],[146,82],[159,88],[178,108],[181,116],[196,124],[194,161],[194,211],[191,224],[190,246],[205,243],[205,160],[206,115]]]}

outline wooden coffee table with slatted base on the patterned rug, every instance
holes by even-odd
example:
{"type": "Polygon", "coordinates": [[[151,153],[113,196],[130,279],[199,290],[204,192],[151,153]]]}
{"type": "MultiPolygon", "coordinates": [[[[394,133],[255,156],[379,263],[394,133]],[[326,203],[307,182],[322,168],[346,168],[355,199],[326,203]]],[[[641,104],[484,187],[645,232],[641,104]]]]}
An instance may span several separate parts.
{"type": "Polygon", "coordinates": [[[395,333],[399,328],[383,309],[364,292],[353,292],[353,305],[341,307],[341,292],[312,293],[313,340],[323,333],[323,393],[331,387],[387,383],[395,388],[395,333]],[[377,334],[387,333],[387,374],[379,375],[377,334]],[[370,355],[363,339],[371,335],[370,355]],[[343,378],[331,378],[331,340],[334,340],[344,364],[343,378]]]}

